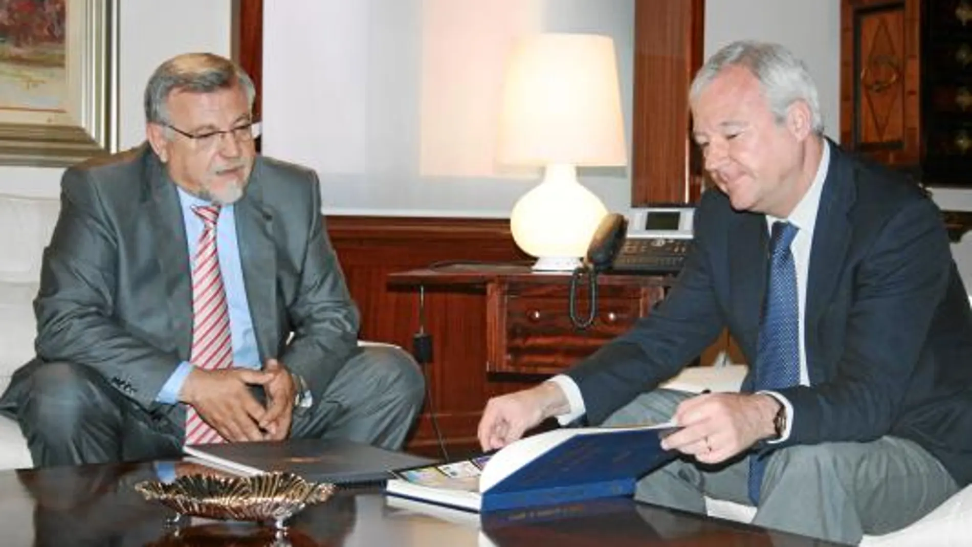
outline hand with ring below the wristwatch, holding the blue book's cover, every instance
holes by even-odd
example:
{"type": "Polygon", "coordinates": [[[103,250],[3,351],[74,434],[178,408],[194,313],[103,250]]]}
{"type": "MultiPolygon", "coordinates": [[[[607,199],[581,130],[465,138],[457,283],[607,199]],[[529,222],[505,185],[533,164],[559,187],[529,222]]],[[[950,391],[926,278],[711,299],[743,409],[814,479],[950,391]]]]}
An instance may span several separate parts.
{"type": "Polygon", "coordinates": [[[776,431],[780,401],[765,393],[711,393],[682,401],[674,419],[680,429],[662,448],[695,456],[703,463],[724,462],[776,431]]]}

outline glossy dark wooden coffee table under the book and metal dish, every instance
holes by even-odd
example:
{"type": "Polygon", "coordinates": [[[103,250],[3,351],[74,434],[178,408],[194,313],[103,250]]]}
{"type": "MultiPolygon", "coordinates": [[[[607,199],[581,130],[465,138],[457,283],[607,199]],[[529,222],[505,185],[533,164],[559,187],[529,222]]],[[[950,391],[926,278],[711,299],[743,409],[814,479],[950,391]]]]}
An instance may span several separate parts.
{"type": "Polygon", "coordinates": [[[480,521],[474,514],[408,506],[407,500],[382,496],[376,489],[342,491],[305,509],[284,538],[275,539],[272,530],[252,524],[191,522],[177,530],[166,528],[171,516],[167,509],[144,501],[132,489],[151,478],[151,463],[0,471],[0,545],[831,545],[625,499],[491,514],[480,521]]]}

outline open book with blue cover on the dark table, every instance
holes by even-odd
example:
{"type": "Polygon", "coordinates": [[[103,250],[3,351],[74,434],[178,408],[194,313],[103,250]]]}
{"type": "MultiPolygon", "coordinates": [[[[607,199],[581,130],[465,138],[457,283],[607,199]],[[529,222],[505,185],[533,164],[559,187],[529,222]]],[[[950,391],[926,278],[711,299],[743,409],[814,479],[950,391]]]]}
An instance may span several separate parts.
{"type": "Polygon", "coordinates": [[[386,492],[471,511],[629,496],[651,469],[674,458],[661,448],[672,423],[555,429],[492,455],[395,471],[386,492]]]}

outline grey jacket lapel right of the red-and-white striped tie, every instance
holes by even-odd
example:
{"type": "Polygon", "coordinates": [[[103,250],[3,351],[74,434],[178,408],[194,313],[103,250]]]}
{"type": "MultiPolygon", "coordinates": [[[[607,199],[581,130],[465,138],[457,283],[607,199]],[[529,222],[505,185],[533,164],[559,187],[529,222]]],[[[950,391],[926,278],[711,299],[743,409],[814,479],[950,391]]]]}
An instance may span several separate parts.
{"type": "Polygon", "coordinates": [[[260,185],[262,160],[257,159],[246,194],[236,203],[236,237],[239,242],[243,285],[250,304],[260,360],[276,357],[278,340],[276,301],[276,247],[273,211],[263,202],[260,185]]]}

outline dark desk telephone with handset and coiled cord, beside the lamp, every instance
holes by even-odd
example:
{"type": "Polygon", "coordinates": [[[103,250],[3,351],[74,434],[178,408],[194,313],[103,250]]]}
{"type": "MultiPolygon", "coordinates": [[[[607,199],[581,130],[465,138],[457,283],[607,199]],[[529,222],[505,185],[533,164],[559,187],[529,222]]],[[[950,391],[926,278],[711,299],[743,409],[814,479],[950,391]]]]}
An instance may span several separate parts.
{"type": "Polygon", "coordinates": [[[571,322],[580,329],[594,324],[597,316],[597,276],[603,271],[644,274],[675,274],[685,261],[692,242],[691,207],[649,207],[636,210],[632,222],[617,213],[601,220],[591,237],[584,265],[573,271],[569,295],[571,322]],[[577,283],[587,276],[590,308],[587,317],[576,313],[577,283]]]}

